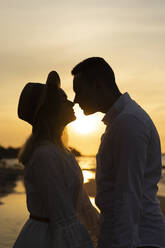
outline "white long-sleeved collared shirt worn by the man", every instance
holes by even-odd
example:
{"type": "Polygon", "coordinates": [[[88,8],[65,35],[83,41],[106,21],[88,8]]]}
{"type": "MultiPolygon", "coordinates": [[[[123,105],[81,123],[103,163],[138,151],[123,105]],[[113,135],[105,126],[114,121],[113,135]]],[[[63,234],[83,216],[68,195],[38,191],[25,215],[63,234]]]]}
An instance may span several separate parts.
{"type": "Polygon", "coordinates": [[[164,248],[165,219],[156,197],[162,167],[157,130],[128,93],[103,121],[96,170],[96,204],[103,215],[99,248],[164,248]]]}

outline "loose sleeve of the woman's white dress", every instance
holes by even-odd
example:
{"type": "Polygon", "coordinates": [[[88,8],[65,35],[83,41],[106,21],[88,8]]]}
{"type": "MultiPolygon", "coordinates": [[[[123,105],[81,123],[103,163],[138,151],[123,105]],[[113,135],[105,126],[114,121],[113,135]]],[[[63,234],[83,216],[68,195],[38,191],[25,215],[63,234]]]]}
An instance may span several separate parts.
{"type": "Polygon", "coordinates": [[[66,166],[56,151],[38,150],[33,158],[35,187],[47,209],[50,226],[68,222],[75,210],[65,180],[66,166]]]}

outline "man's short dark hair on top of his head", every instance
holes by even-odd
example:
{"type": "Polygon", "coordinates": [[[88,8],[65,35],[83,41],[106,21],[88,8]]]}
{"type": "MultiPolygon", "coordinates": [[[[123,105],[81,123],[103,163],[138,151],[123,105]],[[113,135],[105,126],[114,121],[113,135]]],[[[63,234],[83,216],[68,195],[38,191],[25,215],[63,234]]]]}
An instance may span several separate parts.
{"type": "Polygon", "coordinates": [[[77,64],[71,71],[75,76],[79,73],[91,81],[99,80],[107,84],[111,89],[118,90],[115,83],[115,74],[110,65],[100,57],[91,57],[77,64]]]}

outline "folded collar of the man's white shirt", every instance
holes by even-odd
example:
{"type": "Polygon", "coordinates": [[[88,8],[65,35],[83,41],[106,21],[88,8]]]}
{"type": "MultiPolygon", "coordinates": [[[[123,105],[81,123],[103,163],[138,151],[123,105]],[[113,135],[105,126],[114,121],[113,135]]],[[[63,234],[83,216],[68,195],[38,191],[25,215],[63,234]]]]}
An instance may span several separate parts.
{"type": "Polygon", "coordinates": [[[108,125],[110,122],[112,122],[112,120],[123,110],[124,106],[130,101],[132,101],[132,99],[127,92],[122,94],[105,114],[104,118],[102,119],[104,124],[108,125]]]}

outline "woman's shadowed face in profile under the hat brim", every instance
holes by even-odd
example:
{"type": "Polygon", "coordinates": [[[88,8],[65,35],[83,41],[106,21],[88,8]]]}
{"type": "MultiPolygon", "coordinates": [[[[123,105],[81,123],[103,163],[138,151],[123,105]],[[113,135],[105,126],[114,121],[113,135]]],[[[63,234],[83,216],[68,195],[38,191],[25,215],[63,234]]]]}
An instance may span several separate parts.
{"type": "Polygon", "coordinates": [[[60,101],[59,121],[61,125],[65,126],[76,119],[73,110],[74,104],[73,102],[67,99],[67,95],[61,88],[59,88],[59,101],[60,101]]]}

